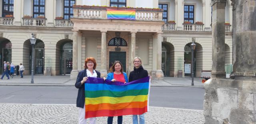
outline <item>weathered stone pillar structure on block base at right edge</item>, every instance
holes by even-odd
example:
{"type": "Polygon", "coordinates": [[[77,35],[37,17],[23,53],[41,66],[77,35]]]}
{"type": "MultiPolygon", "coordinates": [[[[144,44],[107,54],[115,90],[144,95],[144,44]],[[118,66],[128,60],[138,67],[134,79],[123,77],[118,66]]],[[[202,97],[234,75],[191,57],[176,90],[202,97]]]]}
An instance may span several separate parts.
{"type": "MultiPolygon", "coordinates": [[[[224,6],[226,0],[212,0],[213,42],[223,40],[224,6]],[[217,15],[216,15],[217,14],[217,15]],[[221,19],[221,20],[220,20],[221,19]],[[218,20],[221,24],[218,24],[218,20]],[[216,23],[216,24],[214,24],[216,23]],[[222,24],[223,23],[223,24],[222,24]],[[215,26],[214,26],[215,25],[215,26]],[[221,29],[221,30],[220,30],[221,29]],[[216,38],[214,38],[216,37],[216,38]],[[220,39],[219,39],[220,38],[220,39]]],[[[232,0],[233,5],[233,54],[236,55],[232,79],[225,79],[224,51],[213,46],[212,78],[204,83],[205,124],[256,124],[256,1],[232,0]],[[236,4],[237,3],[237,4],[236,4]],[[220,73],[218,73],[220,72],[220,73]]],[[[224,41],[223,41],[224,42],[224,41]]],[[[216,43],[216,42],[215,42],[216,43]]]]}

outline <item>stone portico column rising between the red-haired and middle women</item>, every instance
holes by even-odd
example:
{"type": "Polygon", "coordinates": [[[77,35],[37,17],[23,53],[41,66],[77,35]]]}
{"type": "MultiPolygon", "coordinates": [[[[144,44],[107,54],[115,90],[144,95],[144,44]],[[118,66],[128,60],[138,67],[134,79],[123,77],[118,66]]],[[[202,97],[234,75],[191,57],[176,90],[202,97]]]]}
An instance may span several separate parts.
{"type": "Polygon", "coordinates": [[[107,76],[107,45],[106,45],[107,31],[101,31],[101,63],[100,63],[100,76],[107,76]]]}

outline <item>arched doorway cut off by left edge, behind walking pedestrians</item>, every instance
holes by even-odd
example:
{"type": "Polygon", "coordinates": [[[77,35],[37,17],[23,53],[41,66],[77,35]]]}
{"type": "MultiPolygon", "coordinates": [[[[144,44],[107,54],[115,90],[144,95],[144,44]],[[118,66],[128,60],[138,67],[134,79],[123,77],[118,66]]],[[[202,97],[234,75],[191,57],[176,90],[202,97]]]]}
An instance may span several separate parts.
{"type": "Polygon", "coordinates": [[[12,43],[6,38],[0,38],[0,74],[3,73],[3,63],[12,62],[12,43]]]}

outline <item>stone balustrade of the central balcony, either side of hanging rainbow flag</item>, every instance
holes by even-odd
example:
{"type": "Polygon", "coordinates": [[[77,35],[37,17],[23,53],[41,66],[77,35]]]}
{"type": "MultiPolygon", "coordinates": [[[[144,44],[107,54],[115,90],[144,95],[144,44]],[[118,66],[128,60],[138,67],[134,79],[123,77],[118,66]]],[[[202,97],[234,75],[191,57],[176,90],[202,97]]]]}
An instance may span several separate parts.
{"type": "MultiPolygon", "coordinates": [[[[162,13],[158,11],[136,10],[136,20],[162,21],[162,13]]],[[[106,9],[74,8],[73,18],[107,19],[106,9]]]]}

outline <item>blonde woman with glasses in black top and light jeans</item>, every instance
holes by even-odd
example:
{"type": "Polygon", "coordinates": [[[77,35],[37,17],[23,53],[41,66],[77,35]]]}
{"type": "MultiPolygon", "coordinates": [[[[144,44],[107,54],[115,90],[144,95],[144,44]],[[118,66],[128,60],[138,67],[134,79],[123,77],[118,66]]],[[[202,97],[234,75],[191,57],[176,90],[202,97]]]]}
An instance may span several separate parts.
{"type": "MultiPolygon", "coordinates": [[[[145,78],[148,76],[148,71],[144,70],[142,60],[140,57],[135,57],[133,60],[134,70],[129,74],[129,82],[138,80],[141,78],[145,78]]],[[[139,115],[140,117],[140,124],[145,124],[145,117],[144,114],[139,115]]],[[[138,115],[132,116],[133,124],[138,124],[138,115]]]]}

